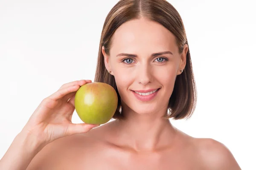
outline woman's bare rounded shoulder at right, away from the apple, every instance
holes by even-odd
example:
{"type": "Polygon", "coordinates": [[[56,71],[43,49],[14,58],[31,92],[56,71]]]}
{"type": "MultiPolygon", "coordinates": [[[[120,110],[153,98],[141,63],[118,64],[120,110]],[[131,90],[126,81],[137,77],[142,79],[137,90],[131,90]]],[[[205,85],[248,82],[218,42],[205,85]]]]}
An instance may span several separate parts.
{"type": "Polygon", "coordinates": [[[210,138],[195,138],[199,157],[207,170],[241,170],[230,150],[210,138]]]}

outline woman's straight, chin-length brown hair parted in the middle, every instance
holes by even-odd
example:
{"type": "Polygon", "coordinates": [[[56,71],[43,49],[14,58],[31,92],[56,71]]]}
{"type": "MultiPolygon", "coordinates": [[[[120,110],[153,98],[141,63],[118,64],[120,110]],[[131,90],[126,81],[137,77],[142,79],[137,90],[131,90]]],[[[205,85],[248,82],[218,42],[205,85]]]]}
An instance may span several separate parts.
{"type": "MultiPolygon", "coordinates": [[[[116,29],[129,20],[140,19],[141,17],[156,21],[171,31],[176,37],[176,44],[180,54],[183,51],[183,46],[185,44],[188,45],[180,14],[166,0],[120,0],[108,13],[102,29],[94,79],[94,82],[105,82],[116,90],[118,105],[113,116],[114,119],[122,119],[123,117],[121,101],[116,88],[115,78],[105,68],[102,46],[105,48],[105,53],[109,55],[112,43],[111,38],[116,29]]],[[[188,119],[195,110],[196,101],[197,92],[188,49],[185,69],[183,73],[176,77],[174,89],[170,96],[168,106],[170,113],[164,116],[164,118],[188,119]]]]}

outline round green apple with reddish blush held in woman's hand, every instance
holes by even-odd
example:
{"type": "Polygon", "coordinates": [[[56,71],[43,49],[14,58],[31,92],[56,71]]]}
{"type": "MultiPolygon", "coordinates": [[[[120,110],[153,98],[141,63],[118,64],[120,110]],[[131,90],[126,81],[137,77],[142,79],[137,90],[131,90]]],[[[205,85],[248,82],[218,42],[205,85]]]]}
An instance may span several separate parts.
{"type": "Polygon", "coordinates": [[[75,109],[79,118],[87,124],[107,123],[117,108],[115,89],[103,82],[82,85],[75,95],[75,109]]]}

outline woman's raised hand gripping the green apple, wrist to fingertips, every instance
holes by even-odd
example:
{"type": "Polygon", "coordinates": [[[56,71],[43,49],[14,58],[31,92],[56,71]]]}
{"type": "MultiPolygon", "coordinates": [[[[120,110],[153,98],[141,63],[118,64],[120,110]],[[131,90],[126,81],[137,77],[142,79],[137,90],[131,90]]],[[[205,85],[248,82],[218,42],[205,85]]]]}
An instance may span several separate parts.
{"type": "Polygon", "coordinates": [[[74,99],[80,86],[91,80],[69,82],[51,96],[45,98],[34,111],[21,133],[29,133],[42,143],[76,133],[85,133],[99,125],[73,124],[74,99]]]}

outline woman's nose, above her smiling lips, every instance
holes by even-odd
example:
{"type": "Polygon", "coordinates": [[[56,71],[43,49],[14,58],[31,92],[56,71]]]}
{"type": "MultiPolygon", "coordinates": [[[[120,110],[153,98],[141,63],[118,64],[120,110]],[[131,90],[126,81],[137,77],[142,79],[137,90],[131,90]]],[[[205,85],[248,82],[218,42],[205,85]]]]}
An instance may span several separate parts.
{"type": "Polygon", "coordinates": [[[150,65],[139,65],[136,77],[137,81],[142,85],[146,85],[149,82],[153,82],[152,68],[150,67],[150,65]]]}

